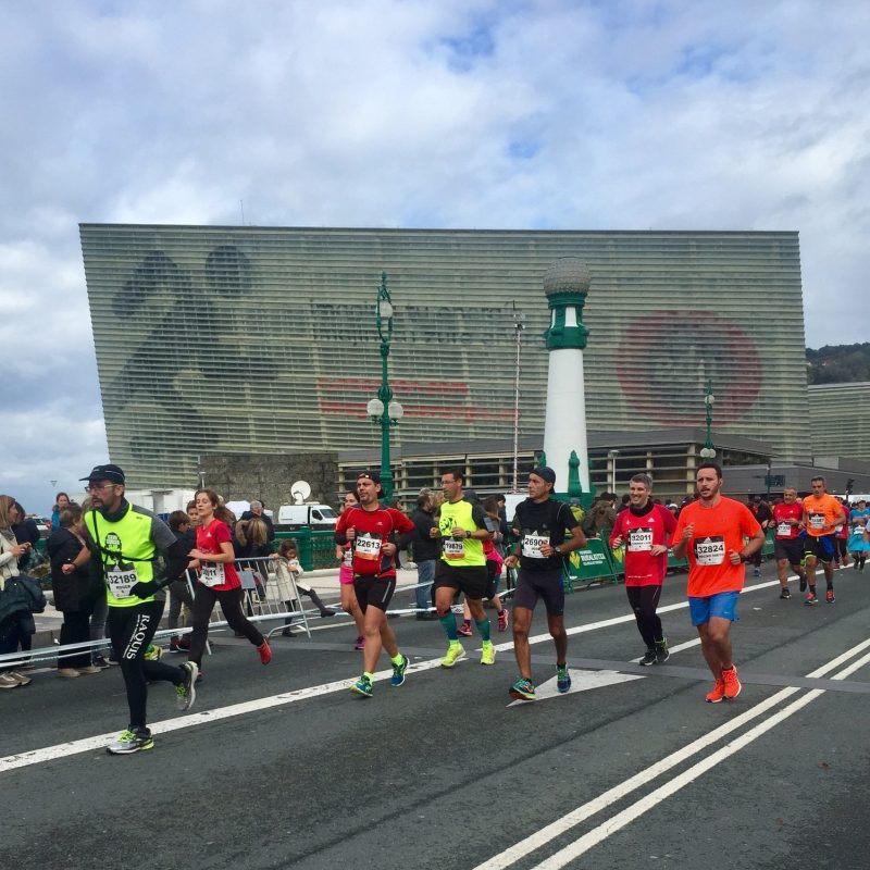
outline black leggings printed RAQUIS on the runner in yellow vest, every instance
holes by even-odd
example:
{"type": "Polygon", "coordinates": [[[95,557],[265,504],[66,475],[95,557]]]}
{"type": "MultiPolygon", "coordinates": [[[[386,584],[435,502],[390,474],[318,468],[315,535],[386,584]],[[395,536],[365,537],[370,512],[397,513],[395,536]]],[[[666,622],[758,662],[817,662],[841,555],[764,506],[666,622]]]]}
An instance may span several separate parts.
{"type": "Polygon", "coordinates": [[[109,608],[109,636],[127,688],[130,731],[145,728],[149,681],[165,680],[178,686],[187,675],[184,668],[145,659],[162,614],[163,601],[109,608]]]}

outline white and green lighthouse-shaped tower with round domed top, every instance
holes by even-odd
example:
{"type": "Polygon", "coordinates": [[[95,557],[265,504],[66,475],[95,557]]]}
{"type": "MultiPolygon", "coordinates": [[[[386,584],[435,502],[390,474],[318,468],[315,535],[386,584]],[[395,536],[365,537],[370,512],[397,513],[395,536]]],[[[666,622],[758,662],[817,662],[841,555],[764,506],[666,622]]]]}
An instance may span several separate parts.
{"type": "Polygon", "coordinates": [[[549,350],[544,452],[547,464],[556,472],[554,488],[569,494],[576,486],[576,477],[571,486],[570,469],[576,469],[574,474],[580,474],[583,493],[589,493],[583,381],[583,349],[589,334],[583,325],[583,306],[588,291],[588,266],[576,257],[557,260],[544,275],[544,293],[551,312],[550,327],[544,333],[549,350]]]}

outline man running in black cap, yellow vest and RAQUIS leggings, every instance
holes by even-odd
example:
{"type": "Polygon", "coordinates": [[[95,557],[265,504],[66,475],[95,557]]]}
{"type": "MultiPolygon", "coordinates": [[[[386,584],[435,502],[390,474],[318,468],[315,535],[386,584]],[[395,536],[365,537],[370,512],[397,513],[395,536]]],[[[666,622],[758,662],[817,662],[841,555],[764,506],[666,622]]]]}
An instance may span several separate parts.
{"type": "Polygon", "coordinates": [[[129,755],[154,745],[146,724],[149,682],[172,683],[181,710],[188,710],[196,698],[195,663],[145,660],[165,604],[156,594],[185,570],[188,558],[162,520],[124,498],[124,472],[117,465],[96,465],[82,480],[88,482],[92,508],[85,514],[91,572],[107,586],[109,634],[129,707],[127,729],[105,748],[111,755],[129,755]],[[164,575],[156,570],[158,555],[166,560],[164,575]]]}

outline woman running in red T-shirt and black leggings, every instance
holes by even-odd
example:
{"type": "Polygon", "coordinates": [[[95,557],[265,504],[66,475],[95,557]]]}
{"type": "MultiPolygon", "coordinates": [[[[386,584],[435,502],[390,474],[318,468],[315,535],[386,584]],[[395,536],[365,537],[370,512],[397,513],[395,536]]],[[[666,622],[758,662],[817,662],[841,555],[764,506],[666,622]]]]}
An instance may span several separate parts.
{"type": "Polygon", "coordinates": [[[195,495],[199,525],[197,546],[190,558],[199,562],[199,576],[194,593],[194,612],[190,619],[190,651],[188,660],[202,667],[202,654],[209,638],[209,618],[220,601],[224,619],[237,634],[244,635],[257,647],[260,661],[272,661],[272,647],[260,630],[241,612],[241,580],[236,571],[233,534],[229,531],[232,514],[220,504],[212,489],[197,489],[195,495]]]}

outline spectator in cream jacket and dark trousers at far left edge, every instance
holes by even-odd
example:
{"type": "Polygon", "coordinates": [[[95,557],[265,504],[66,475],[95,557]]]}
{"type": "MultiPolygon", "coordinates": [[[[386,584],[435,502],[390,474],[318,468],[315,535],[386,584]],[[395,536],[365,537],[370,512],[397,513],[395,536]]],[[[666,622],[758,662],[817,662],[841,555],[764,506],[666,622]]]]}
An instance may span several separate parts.
{"type": "MultiPolygon", "coordinates": [[[[0,496],[0,655],[15,652],[18,647],[30,649],[30,638],[36,631],[33,612],[24,608],[13,596],[7,585],[12,577],[20,576],[18,560],[25,556],[30,544],[18,544],[13,523],[17,522],[18,512],[12,496],[0,496]]],[[[17,688],[30,682],[18,671],[8,664],[0,664],[0,688],[17,688]]]]}

